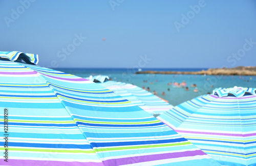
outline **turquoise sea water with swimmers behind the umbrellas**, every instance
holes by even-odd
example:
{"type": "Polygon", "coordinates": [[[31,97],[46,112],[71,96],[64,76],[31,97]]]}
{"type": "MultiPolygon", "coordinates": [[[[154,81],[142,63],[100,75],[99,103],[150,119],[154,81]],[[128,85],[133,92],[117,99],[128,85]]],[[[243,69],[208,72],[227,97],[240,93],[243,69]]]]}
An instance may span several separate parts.
{"type": "MultiPolygon", "coordinates": [[[[200,71],[202,69],[207,68],[143,68],[142,71],[200,71]]],[[[256,76],[136,75],[135,72],[138,69],[132,68],[57,68],[57,70],[83,78],[90,75],[108,75],[113,81],[132,83],[139,87],[149,87],[151,92],[155,90],[157,96],[167,100],[174,106],[202,94],[212,92],[217,87],[243,86],[256,88],[256,76]],[[182,83],[183,81],[186,82],[189,90],[185,90],[183,87],[167,85],[169,82],[182,83]],[[193,91],[195,87],[190,87],[191,84],[197,84],[198,92],[193,91]],[[165,92],[164,96],[162,95],[163,91],[165,92]]]]}

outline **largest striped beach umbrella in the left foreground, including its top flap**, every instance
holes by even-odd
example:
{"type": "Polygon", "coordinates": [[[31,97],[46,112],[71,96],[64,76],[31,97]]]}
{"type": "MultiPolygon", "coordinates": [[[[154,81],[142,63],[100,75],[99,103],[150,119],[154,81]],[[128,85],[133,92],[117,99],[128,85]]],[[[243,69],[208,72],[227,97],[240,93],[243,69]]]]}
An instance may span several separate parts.
{"type": "Polygon", "coordinates": [[[0,165],[219,165],[115,92],[3,55],[0,165]]]}

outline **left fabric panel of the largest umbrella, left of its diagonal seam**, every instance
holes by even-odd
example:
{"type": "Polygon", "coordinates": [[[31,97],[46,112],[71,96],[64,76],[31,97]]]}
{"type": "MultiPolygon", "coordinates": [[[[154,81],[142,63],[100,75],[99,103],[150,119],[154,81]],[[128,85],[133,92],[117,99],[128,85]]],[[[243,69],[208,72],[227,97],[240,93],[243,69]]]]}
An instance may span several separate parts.
{"type": "MultiPolygon", "coordinates": [[[[8,119],[1,135],[9,157],[0,165],[103,165],[43,75],[21,63],[0,65],[2,127],[4,110],[8,119]]],[[[1,139],[1,154],[4,144],[1,139]]]]}

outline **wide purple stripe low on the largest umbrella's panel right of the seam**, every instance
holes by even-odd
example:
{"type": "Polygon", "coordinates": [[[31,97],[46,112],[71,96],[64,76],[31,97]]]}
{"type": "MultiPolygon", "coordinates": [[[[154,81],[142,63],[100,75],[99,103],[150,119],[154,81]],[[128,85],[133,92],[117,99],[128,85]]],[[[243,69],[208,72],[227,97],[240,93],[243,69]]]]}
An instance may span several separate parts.
{"type": "MultiPolygon", "coordinates": [[[[163,160],[163,159],[197,156],[197,155],[206,155],[206,153],[204,153],[201,150],[196,150],[196,151],[185,151],[185,152],[153,154],[153,155],[146,155],[146,156],[109,159],[102,162],[104,165],[123,165],[123,164],[132,164],[132,163],[146,162],[146,161],[157,161],[157,160],[163,160]]],[[[160,161],[159,161],[159,164],[161,164],[160,161]]]]}

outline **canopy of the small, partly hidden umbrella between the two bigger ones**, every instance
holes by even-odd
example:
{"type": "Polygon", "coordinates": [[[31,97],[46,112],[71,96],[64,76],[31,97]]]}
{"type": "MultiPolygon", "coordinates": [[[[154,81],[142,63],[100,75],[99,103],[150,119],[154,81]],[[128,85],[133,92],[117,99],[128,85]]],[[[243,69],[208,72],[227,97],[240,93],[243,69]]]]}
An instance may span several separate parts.
{"type": "Polygon", "coordinates": [[[133,84],[107,81],[101,85],[116,92],[150,114],[161,114],[173,108],[172,105],[158,96],[133,84]]]}

